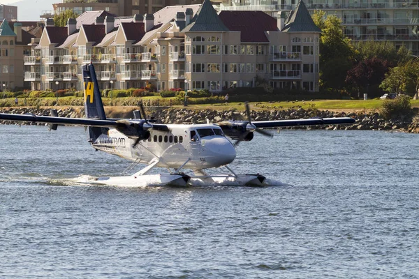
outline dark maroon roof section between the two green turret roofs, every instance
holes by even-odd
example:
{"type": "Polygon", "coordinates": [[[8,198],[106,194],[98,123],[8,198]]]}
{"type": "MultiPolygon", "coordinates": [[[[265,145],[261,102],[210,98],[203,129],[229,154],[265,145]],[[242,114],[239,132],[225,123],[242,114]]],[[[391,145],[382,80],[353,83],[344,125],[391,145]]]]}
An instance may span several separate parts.
{"type": "Polygon", "coordinates": [[[242,42],[269,43],[265,32],[278,31],[277,19],[260,10],[223,10],[219,17],[230,31],[240,31],[240,40],[242,42]]]}

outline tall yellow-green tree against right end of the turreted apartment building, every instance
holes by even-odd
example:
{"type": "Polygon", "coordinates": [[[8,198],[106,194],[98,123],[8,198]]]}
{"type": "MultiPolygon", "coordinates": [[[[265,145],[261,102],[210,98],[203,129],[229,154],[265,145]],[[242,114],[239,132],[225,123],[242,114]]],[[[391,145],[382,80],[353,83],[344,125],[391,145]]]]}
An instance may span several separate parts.
{"type": "Polygon", "coordinates": [[[346,73],[353,66],[355,50],[344,36],[341,20],[336,15],[315,10],[314,23],[322,31],[320,36],[320,85],[323,89],[343,89],[346,73]]]}

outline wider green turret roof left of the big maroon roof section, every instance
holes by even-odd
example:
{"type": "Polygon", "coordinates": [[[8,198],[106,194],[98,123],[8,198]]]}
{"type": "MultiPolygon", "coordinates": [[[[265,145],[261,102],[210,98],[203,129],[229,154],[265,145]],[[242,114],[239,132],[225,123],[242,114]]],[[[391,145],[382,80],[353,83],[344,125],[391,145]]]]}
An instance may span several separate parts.
{"type": "Polygon", "coordinates": [[[219,19],[210,0],[204,0],[198,12],[193,16],[191,23],[182,31],[228,31],[228,28],[219,19]]]}

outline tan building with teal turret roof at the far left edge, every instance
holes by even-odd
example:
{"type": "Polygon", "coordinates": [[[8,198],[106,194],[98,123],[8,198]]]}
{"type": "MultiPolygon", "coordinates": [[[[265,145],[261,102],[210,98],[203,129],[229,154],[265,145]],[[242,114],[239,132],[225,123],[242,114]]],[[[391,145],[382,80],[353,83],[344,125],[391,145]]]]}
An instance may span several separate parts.
{"type": "MultiPolygon", "coordinates": [[[[26,25],[26,24],[25,24],[26,25]]],[[[24,83],[24,56],[31,53],[32,40],[36,40],[40,27],[25,27],[22,22],[0,24],[0,89],[8,90],[16,87],[28,87],[24,83]]]]}

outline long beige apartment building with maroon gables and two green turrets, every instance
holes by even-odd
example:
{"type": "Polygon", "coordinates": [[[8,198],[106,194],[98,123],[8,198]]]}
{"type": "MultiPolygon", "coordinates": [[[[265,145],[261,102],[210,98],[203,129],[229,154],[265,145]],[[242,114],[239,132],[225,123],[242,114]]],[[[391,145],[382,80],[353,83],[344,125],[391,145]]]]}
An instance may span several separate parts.
{"type": "Polygon", "coordinates": [[[82,65],[93,63],[101,89],[152,84],[158,91],[216,92],[254,86],[260,77],[275,88],[318,90],[321,31],[302,2],[286,19],[260,11],[217,14],[209,0],[144,17],[92,15],[70,19],[67,27],[47,20],[24,57],[32,89],[81,90],[82,65]]]}

